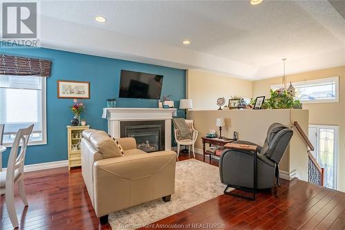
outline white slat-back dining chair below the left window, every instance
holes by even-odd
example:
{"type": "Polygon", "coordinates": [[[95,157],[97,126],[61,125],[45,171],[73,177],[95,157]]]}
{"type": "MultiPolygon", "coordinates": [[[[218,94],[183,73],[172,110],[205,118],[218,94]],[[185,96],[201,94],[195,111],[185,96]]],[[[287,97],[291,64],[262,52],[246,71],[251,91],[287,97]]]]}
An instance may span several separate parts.
{"type": "Polygon", "coordinates": [[[8,216],[12,222],[14,228],[18,227],[18,218],[16,209],[14,206],[14,185],[18,184],[19,194],[21,200],[25,206],[28,206],[28,200],[26,200],[26,193],[24,189],[24,160],[26,155],[26,147],[32,128],[34,125],[28,126],[28,128],[20,128],[17,132],[14,142],[12,144],[10,157],[8,158],[7,171],[1,173],[0,178],[0,194],[5,192],[6,207],[8,216]]]}

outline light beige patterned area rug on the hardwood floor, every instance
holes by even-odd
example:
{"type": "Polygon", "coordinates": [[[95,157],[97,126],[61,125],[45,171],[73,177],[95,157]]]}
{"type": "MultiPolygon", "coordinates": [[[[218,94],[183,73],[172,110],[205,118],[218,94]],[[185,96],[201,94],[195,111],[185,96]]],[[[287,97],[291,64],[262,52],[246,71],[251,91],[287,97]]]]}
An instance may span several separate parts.
{"type": "Polygon", "coordinates": [[[138,229],[197,204],[223,194],[219,168],[199,160],[183,160],[176,163],[175,194],[170,202],[152,200],[109,214],[109,222],[115,229],[138,229]]]}

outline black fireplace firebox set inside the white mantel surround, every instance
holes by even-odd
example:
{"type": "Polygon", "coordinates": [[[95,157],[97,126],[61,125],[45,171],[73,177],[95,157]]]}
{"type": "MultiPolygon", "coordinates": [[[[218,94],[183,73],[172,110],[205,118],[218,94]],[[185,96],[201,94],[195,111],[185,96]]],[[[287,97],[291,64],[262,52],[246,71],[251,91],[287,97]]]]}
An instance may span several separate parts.
{"type": "Polygon", "coordinates": [[[120,136],[133,137],[147,153],[165,150],[165,121],[121,121],[120,136]]]}

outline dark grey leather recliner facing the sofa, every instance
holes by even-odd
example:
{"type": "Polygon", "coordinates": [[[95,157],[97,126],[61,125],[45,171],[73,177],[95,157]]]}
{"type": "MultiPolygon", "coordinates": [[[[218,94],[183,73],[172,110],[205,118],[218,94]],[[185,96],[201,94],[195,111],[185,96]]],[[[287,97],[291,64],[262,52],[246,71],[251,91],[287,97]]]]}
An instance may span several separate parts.
{"type": "MultiPolygon", "coordinates": [[[[257,189],[272,188],[275,177],[280,186],[278,164],[292,136],[293,131],[283,124],[274,123],[268,128],[264,146],[257,147],[257,189]]],[[[246,141],[234,143],[254,144],[246,141]]],[[[253,189],[253,155],[250,151],[225,150],[219,161],[221,182],[230,187],[253,189]]]]}

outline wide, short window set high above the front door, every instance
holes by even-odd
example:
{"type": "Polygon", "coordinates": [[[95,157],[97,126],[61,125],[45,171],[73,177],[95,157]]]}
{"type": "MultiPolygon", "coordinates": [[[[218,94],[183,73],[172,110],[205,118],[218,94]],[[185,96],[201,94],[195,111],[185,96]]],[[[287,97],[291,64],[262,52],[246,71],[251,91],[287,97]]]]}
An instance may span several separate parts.
{"type": "MultiPolygon", "coordinates": [[[[306,82],[293,82],[295,99],[302,103],[339,102],[339,77],[329,77],[306,82]]],[[[275,90],[280,85],[270,86],[275,90]]]]}

